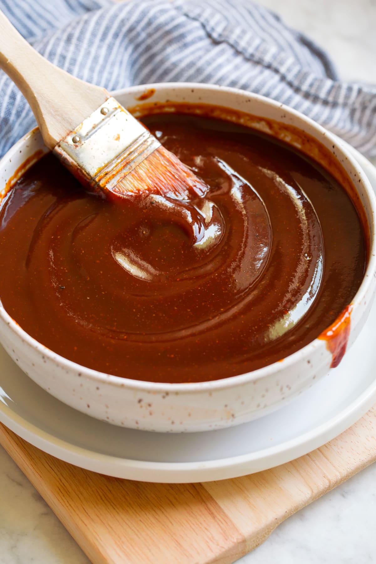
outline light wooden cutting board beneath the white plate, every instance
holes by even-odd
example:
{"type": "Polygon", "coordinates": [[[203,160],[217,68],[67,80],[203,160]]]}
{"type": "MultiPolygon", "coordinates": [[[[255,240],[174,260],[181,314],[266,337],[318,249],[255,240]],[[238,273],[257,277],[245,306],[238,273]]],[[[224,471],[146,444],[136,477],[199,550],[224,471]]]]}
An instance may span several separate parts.
{"type": "Polygon", "coordinates": [[[225,564],[376,460],[376,406],[306,456],[220,482],[109,478],[57,460],[1,424],[0,443],[95,564],[225,564]]]}

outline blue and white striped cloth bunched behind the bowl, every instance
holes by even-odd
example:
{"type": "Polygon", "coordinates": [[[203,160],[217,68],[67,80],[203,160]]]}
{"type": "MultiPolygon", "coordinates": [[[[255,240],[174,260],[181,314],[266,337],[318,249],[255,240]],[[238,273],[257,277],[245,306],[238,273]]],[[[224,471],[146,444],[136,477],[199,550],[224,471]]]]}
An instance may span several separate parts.
{"type": "MultiPolygon", "coordinates": [[[[376,156],[376,86],[342,82],[315,43],[248,0],[0,0],[48,60],[108,90],[215,83],[290,105],[376,156]]],[[[0,155],[35,125],[0,73],[0,155]]]]}

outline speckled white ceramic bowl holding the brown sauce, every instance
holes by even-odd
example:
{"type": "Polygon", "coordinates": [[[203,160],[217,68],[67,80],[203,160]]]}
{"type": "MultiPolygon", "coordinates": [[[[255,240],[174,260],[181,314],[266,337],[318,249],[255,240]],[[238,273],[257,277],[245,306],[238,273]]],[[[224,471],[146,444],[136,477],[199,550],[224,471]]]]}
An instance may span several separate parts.
{"type": "MultiPolygon", "coordinates": [[[[374,213],[376,201],[368,179],[337,138],[315,122],[284,105],[235,89],[198,84],[158,84],[117,91],[125,107],[154,102],[207,103],[249,112],[260,119],[254,125],[268,130],[262,118],[293,125],[319,140],[343,165],[356,186],[370,230],[370,259],[361,287],[353,298],[351,346],[363,327],[374,298],[376,259],[374,213]],[[155,89],[145,102],[137,99],[155,89]]],[[[297,143],[289,134],[287,142],[297,143]]],[[[38,129],[25,135],[0,161],[0,190],[17,168],[41,149],[47,152],[38,129]]],[[[317,157],[317,152],[315,153],[317,157]]],[[[200,384],[154,384],[96,372],[70,362],[38,343],[15,323],[0,303],[0,341],[10,356],[39,386],[62,402],[115,425],[150,431],[206,431],[237,425],[284,405],[329,372],[331,354],[326,342],[309,345],[271,364],[240,376],[200,384]]]]}

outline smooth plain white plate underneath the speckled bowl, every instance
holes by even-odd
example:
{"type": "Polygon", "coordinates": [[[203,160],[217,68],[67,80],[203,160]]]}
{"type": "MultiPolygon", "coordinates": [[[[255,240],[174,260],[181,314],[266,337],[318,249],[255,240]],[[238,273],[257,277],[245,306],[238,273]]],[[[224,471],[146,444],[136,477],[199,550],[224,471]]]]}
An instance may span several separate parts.
{"type": "MultiPolygon", "coordinates": [[[[376,190],[376,169],[354,156],[376,190]]],[[[162,434],[123,429],[65,406],[34,384],[0,347],[0,421],[57,458],[148,482],[204,482],[259,472],[321,446],[376,402],[376,303],[338,368],[289,406],[237,427],[162,434]]]]}

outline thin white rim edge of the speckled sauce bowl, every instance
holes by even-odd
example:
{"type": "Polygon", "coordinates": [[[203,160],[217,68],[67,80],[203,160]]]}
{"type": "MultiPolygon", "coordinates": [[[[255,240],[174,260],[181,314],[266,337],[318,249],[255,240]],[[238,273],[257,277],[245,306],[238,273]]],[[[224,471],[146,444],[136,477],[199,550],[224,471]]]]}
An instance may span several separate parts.
{"type": "MultiPolygon", "coordinates": [[[[312,127],[316,130],[316,133],[319,135],[324,136],[326,139],[330,140],[331,144],[333,144],[336,148],[335,158],[339,161],[339,157],[344,157],[347,160],[353,169],[356,170],[357,175],[361,179],[361,187],[364,188],[366,196],[368,200],[371,202],[371,222],[369,222],[369,229],[370,229],[370,248],[369,248],[369,261],[367,268],[364,272],[363,279],[359,289],[357,290],[355,296],[351,301],[351,305],[353,308],[356,308],[360,305],[362,299],[364,299],[366,293],[369,290],[371,284],[374,284],[374,278],[376,278],[376,233],[375,233],[375,211],[376,211],[376,196],[371,187],[370,181],[366,174],[361,169],[361,166],[355,160],[355,157],[348,151],[346,145],[339,143],[340,139],[331,133],[330,131],[326,130],[321,125],[317,124],[317,122],[313,121],[311,118],[305,116],[304,114],[298,112],[297,110],[290,108],[285,104],[281,104],[280,102],[276,102],[266,96],[262,96],[260,94],[255,94],[254,92],[249,92],[246,90],[240,90],[228,86],[218,86],[218,85],[211,85],[205,83],[196,83],[196,82],[156,82],[150,84],[142,84],[137,86],[129,86],[123,89],[118,89],[112,92],[114,98],[117,96],[122,96],[124,94],[132,94],[138,93],[140,90],[143,91],[145,89],[155,89],[156,91],[162,89],[168,89],[170,91],[174,90],[201,90],[203,92],[209,91],[224,91],[229,95],[236,95],[241,96],[242,98],[247,99],[254,99],[262,102],[264,104],[272,105],[275,108],[281,109],[284,113],[290,114],[295,118],[298,118],[301,122],[307,124],[308,126],[312,127]],[[339,153],[339,154],[338,154],[339,153]]],[[[173,102],[173,100],[171,100],[173,102]]],[[[187,102],[189,104],[189,102],[187,102]]],[[[203,102],[202,102],[203,103],[203,102]]],[[[20,149],[24,148],[25,143],[30,139],[31,136],[36,135],[39,133],[39,128],[34,127],[31,131],[26,133],[21,139],[19,139],[0,159],[0,171],[11,158],[20,152],[20,149]]],[[[317,135],[317,136],[319,136],[317,135]]],[[[350,174],[348,174],[350,177],[350,174]]],[[[357,187],[356,187],[357,188],[357,187]]],[[[357,190],[359,193],[359,191],[357,190]]],[[[1,202],[0,202],[1,204],[1,202]]],[[[275,363],[268,364],[263,368],[258,368],[251,372],[245,372],[243,374],[238,374],[237,376],[229,376],[227,378],[220,378],[219,380],[209,380],[204,382],[182,382],[182,383],[175,383],[172,384],[170,382],[149,382],[144,380],[134,380],[132,378],[128,378],[126,376],[114,376],[113,374],[106,374],[104,372],[96,371],[92,368],[87,368],[81,364],[75,363],[72,360],[68,360],[57,354],[56,352],[48,349],[45,345],[42,345],[39,341],[31,337],[24,329],[20,327],[17,322],[11,318],[11,316],[5,310],[5,307],[2,305],[0,300],[0,319],[5,322],[7,327],[15,333],[18,337],[21,338],[22,341],[26,342],[30,347],[32,347],[37,352],[40,352],[42,355],[45,355],[49,360],[56,364],[60,364],[62,368],[70,369],[72,372],[78,373],[82,377],[86,377],[87,380],[94,380],[95,382],[101,382],[101,384],[110,384],[115,387],[125,387],[127,389],[133,389],[138,391],[146,391],[152,393],[165,393],[172,392],[172,393],[192,393],[194,391],[198,392],[212,392],[214,390],[223,390],[227,387],[236,387],[247,384],[252,381],[261,380],[262,378],[266,378],[270,376],[272,373],[278,373],[282,369],[286,369],[294,365],[295,363],[299,362],[300,359],[304,359],[310,352],[317,349],[317,347],[325,346],[326,343],[324,340],[319,340],[319,338],[315,338],[313,341],[309,342],[308,345],[302,347],[292,354],[286,356],[284,359],[278,360],[275,363]]]]}

